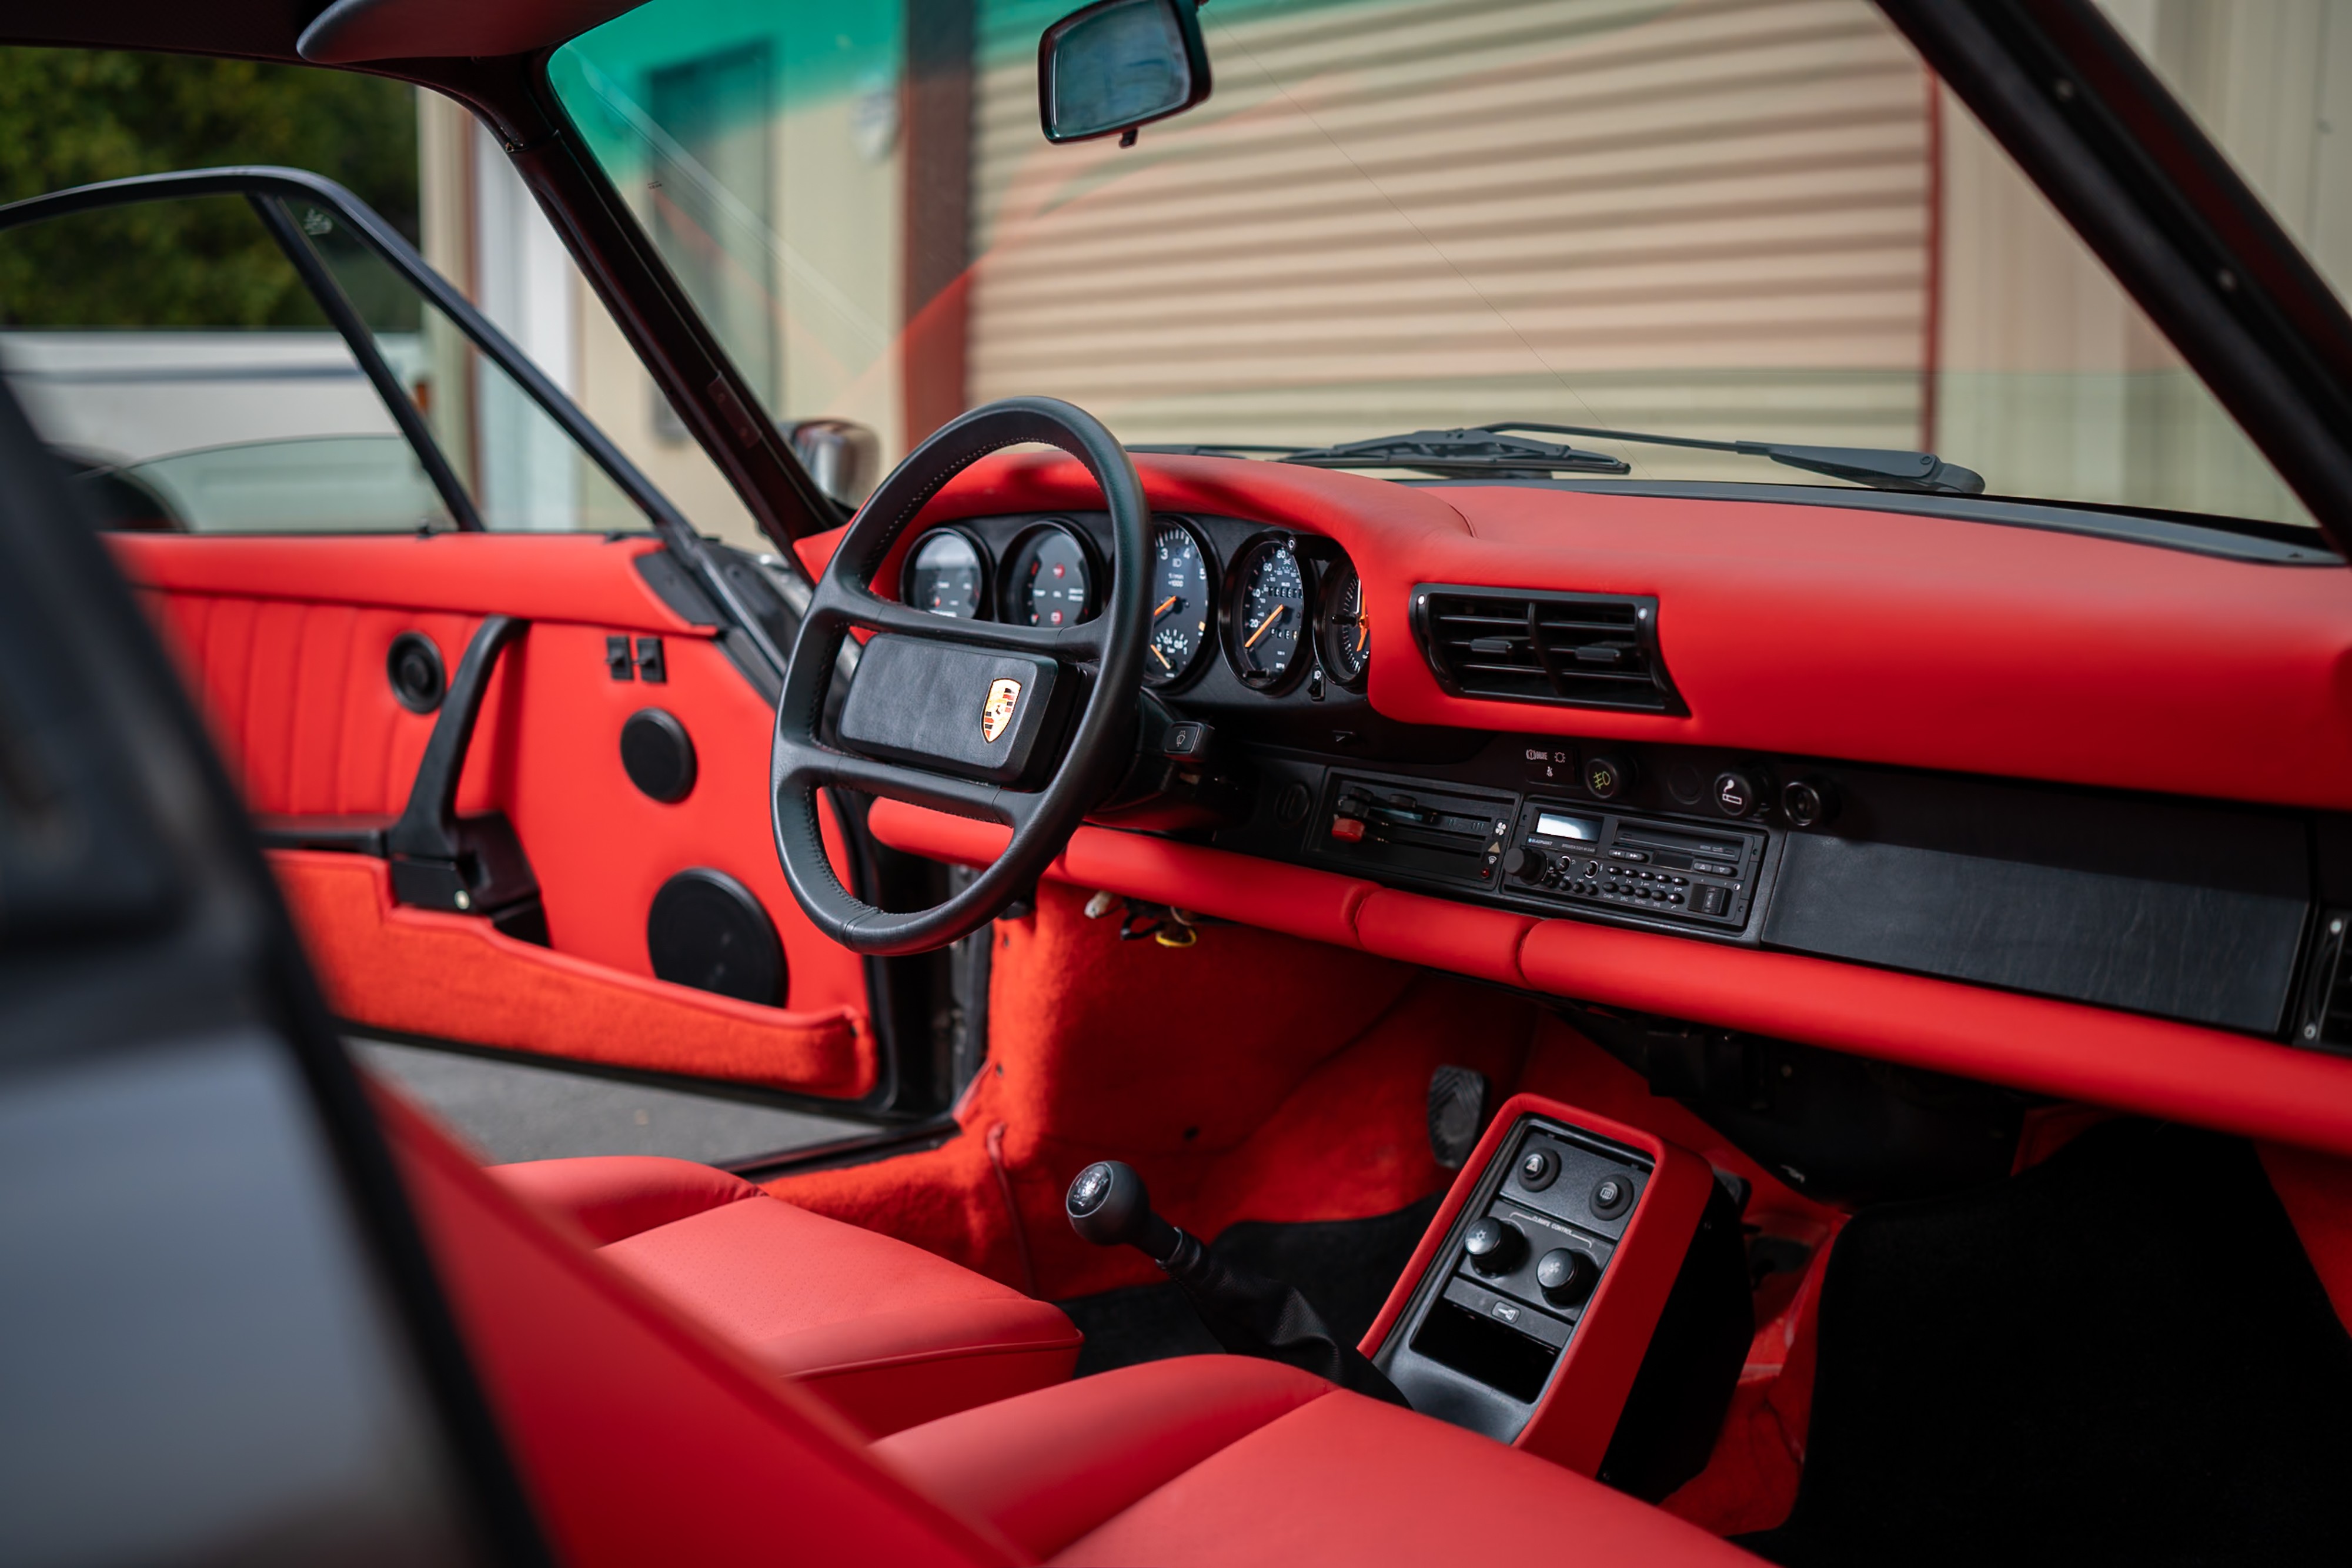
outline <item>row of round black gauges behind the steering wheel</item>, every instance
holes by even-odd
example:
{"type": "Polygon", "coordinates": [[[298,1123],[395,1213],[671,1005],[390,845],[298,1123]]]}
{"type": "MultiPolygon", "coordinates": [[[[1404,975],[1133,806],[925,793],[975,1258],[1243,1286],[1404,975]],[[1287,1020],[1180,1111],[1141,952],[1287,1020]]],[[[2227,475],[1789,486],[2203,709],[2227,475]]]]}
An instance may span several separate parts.
{"type": "MultiPolygon", "coordinates": [[[[1232,517],[1152,517],[1143,682],[1178,691],[1223,665],[1277,696],[1310,682],[1362,691],[1371,670],[1364,583],[1327,538],[1232,517]],[[1221,548],[1223,545],[1223,548],[1221,548]]],[[[898,597],[934,616],[1075,625],[1101,611],[1108,520],[969,520],[927,529],[898,597]]]]}

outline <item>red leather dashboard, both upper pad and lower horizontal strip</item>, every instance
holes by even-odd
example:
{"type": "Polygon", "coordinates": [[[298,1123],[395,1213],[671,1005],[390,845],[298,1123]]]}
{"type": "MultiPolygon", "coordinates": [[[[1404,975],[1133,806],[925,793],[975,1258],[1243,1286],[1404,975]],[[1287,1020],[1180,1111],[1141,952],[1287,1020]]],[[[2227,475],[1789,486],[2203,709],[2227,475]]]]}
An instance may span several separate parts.
{"type": "MultiPolygon", "coordinates": [[[[1371,705],[1392,719],[2352,806],[2343,569],[1907,512],[1430,489],[1237,458],[1136,465],[1155,508],[1338,541],[1367,583],[1371,705]],[[1411,639],[1416,583],[1656,595],[1691,712],[1449,696],[1411,639]]],[[[1096,505],[1075,463],[997,456],[927,520],[1096,505]]],[[[830,536],[802,541],[811,567],[828,550],[830,536]]],[[[880,581],[896,581],[889,564],[880,581]]],[[[967,863],[1004,839],[901,804],[877,806],[873,830],[967,863]]],[[[1105,827],[1082,827],[1051,875],[1534,992],[2352,1152],[2352,1063],[2220,1030],[1512,914],[1105,827]]]]}

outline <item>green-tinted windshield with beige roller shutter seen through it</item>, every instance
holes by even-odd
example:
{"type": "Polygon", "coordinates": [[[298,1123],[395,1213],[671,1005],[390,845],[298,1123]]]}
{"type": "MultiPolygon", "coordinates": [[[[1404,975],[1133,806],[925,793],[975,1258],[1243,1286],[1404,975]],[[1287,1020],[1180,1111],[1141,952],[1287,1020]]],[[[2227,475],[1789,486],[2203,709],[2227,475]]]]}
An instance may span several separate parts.
{"type": "MultiPolygon", "coordinates": [[[[1073,5],[652,0],[550,75],[771,414],[887,458],[1047,393],[1134,444],[1552,421],[2307,522],[1867,0],[1216,0],[1216,94],[1134,148],[1037,127],[1073,5]]],[[[2176,75],[2310,75],[2310,40],[2173,9],[2117,21],[2176,75]]],[[[2305,108],[2260,158],[2312,165],[2305,108]]],[[[2281,207],[2321,270],[2343,186],[2281,207]]],[[[1630,482],[1832,482],[1581,444],[1630,482]]]]}

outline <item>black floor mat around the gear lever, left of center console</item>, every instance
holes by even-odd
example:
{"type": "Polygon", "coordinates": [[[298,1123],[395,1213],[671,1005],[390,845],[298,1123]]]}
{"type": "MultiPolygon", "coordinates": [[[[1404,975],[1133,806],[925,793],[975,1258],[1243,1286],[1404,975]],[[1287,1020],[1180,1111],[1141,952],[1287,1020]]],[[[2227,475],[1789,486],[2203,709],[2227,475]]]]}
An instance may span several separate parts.
{"type": "MultiPolygon", "coordinates": [[[[1230,1267],[1298,1286],[1324,1326],[1352,1345],[1371,1328],[1397,1274],[1411,1262],[1442,1197],[1432,1192],[1411,1208],[1369,1220],[1242,1220],[1211,1241],[1209,1251],[1230,1267]]],[[[1080,1378],[1221,1349],[1174,1284],[1080,1295],[1061,1302],[1061,1309],[1087,1335],[1087,1347],[1077,1352],[1080,1378]]]]}

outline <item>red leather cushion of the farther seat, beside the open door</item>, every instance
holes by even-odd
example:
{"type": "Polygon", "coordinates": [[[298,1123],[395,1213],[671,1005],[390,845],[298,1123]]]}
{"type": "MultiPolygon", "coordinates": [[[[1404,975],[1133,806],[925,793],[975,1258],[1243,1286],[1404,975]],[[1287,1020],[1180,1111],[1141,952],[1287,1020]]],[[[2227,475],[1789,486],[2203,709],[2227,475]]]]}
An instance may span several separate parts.
{"type": "Polygon", "coordinates": [[[1077,1363],[1058,1307],[710,1166],[623,1154],[489,1173],[868,1436],[1061,1382],[1077,1363]]]}

